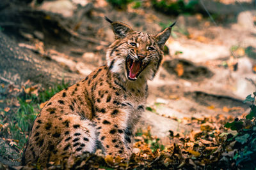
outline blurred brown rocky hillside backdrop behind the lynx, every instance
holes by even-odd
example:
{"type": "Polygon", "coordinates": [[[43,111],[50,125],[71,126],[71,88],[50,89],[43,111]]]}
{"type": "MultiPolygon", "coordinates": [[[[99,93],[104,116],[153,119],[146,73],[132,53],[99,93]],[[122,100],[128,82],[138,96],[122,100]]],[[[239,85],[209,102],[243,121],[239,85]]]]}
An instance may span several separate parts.
{"type": "MultiPolygon", "coordinates": [[[[163,65],[148,82],[141,127],[150,125],[152,134],[164,138],[170,129],[187,131],[185,117],[248,112],[243,99],[256,87],[255,0],[1,0],[0,123],[7,129],[1,129],[2,138],[12,120],[6,115],[23,106],[17,101],[21,93],[42,97],[40,89],[74,83],[106,63],[106,48],[115,38],[104,16],[151,34],[177,21],[163,65]]],[[[31,127],[45,101],[40,98],[31,115],[19,115],[29,122],[17,123],[20,131],[31,127]]]]}

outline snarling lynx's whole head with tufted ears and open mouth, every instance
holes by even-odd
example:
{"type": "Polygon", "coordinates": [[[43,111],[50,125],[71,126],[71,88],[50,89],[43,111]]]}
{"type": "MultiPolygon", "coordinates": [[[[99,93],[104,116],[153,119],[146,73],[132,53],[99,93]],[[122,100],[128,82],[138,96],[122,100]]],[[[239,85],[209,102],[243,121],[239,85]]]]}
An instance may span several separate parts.
{"type": "Polygon", "coordinates": [[[116,40],[107,50],[109,69],[122,80],[152,80],[163,59],[163,46],[169,38],[172,26],[156,35],[133,31],[122,22],[111,23],[116,40]]]}

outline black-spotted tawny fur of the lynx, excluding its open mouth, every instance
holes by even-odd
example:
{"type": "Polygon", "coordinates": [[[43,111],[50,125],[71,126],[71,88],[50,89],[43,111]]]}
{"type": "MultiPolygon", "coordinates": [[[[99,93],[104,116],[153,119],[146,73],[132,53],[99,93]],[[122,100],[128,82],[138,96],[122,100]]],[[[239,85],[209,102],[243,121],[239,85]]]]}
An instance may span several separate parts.
{"type": "Polygon", "coordinates": [[[45,165],[97,149],[105,155],[131,155],[135,125],[148,96],[147,80],[159,69],[172,27],[150,35],[121,22],[111,25],[116,40],[107,50],[108,63],[49,100],[34,122],[23,164],[45,165]],[[147,63],[135,81],[128,78],[127,57],[147,63]]]}

